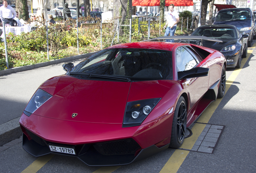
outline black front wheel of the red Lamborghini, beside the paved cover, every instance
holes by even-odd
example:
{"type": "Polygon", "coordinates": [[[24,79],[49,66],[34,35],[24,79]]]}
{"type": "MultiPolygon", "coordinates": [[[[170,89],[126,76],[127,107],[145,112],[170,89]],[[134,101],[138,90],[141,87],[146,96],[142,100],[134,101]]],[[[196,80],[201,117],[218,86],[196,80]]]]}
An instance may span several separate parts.
{"type": "Polygon", "coordinates": [[[179,148],[185,138],[187,128],[187,105],[184,97],[180,97],[175,108],[172,128],[171,128],[171,141],[170,148],[179,148]]]}

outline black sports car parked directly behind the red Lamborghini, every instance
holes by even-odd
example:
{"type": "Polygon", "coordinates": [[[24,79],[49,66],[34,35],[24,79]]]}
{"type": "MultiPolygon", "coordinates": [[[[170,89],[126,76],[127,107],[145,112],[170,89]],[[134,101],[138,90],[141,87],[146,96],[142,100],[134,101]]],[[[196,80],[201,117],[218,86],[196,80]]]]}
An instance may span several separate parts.
{"type": "Polygon", "coordinates": [[[227,68],[240,68],[241,58],[246,58],[248,34],[241,34],[233,25],[204,25],[198,27],[191,36],[206,36],[222,42],[203,40],[202,46],[219,50],[227,59],[227,68]]]}

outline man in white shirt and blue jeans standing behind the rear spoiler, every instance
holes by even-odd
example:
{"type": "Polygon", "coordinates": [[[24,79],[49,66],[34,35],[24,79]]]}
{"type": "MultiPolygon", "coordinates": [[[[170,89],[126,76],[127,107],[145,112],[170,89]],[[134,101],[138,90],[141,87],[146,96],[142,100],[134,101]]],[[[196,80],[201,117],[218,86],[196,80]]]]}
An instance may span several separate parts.
{"type": "MultiPolygon", "coordinates": [[[[165,36],[174,36],[175,30],[177,28],[177,23],[180,22],[180,17],[178,12],[174,10],[174,5],[170,4],[169,5],[169,12],[166,17],[166,24],[164,28],[165,30],[165,36]],[[166,27],[167,26],[167,27],[166,27]]],[[[171,40],[166,40],[167,42],[174,42],[173,39],[171,40]]]]}

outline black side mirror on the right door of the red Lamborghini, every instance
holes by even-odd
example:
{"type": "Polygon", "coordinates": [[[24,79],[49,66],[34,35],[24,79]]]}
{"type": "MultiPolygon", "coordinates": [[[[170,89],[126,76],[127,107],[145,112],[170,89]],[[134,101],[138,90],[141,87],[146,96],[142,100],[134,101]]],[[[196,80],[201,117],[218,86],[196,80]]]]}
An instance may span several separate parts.
{"type": "Polygon", "coordinates": [[[194,78],[208,76],[209,68],[195,67],[190,70],[178,72],[178,80],[182,78],[194,78]]]}

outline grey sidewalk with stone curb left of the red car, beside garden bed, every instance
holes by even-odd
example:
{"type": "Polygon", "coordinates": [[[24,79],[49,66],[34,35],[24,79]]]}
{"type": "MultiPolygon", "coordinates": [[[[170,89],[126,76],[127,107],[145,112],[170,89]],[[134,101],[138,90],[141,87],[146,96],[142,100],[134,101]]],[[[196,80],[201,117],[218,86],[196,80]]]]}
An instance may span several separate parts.
{"type": "Polygon", "coordinates": [[[19,138],[22,135],[22,131],[19,126],[21,113],[28,100],[43,81],[53,76],[65,74],[65,71],[62,70],[61,66],[63,62],[73,62],[77,60],[76,62],[78,63],[81,59],[87,58],[94,53],[95,52],[91,52],[88,54],[71,56],[39,64],[1,70],[0,146],[19,138]],[[58,67],[56,67],[55,64],[58,67]],[[49,70],[50,68],[55,68],[55,71],[49,70]],[[44,78],[39,75],[42,75],[44,78]]]}

